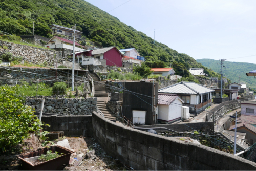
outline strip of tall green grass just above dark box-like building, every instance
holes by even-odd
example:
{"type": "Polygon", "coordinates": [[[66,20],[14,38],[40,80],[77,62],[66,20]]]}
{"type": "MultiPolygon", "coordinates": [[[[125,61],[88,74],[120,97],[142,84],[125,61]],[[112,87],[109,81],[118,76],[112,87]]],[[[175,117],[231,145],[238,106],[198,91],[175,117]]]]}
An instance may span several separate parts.
{"type": "Polygon", "coordinates": [[[126,73],[122,74],[119,72],[110,72],[108,76],[106,77],[107,79],[113,79],[113,80],[140,80],[142,77],[138,74],[134,73],[126,73]]]}

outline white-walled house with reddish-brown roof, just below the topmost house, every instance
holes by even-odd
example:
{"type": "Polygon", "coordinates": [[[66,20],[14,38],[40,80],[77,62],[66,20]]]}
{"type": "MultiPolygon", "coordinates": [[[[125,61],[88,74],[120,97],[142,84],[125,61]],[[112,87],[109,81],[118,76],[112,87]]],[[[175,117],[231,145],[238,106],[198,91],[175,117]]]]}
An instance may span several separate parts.
{"type": "MultiPolygon", "coordinates": [[[[65,39],[65,38],[61,38],[61,37],[58,37],[58,36],[54,36],[46,43],[45,47],[49,48],[49,49],[64,48],[64,49],[68,49],[68,50],[73,51],[73,41],[65,39]]],[[[83,48],[84,48],[84,46],[75,42],[75,51],[76,52],[84,51],[83,48]]]]}

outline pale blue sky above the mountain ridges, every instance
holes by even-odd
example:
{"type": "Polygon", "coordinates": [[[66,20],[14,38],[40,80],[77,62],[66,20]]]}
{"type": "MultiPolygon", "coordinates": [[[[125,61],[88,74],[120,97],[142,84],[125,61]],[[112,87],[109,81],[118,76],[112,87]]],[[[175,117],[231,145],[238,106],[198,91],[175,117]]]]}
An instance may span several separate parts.
{"type": "Polygon", "coordinates": [[[254,0],[127,1],[87,0],[147,36],[156,29],[158,42],[195,59],[255,55],[228,61],[256,63],[254,0]]]}

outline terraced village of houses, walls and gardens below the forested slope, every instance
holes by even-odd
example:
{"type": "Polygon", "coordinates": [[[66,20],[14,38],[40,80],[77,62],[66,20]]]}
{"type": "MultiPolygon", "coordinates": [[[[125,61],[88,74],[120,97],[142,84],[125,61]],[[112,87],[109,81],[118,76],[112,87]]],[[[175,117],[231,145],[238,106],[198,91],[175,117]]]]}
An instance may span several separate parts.
{"type": "Polygon", "coordinates": [[[0,30],[1,170],[256,169],[248,83],[66,26],[0,30]]]}

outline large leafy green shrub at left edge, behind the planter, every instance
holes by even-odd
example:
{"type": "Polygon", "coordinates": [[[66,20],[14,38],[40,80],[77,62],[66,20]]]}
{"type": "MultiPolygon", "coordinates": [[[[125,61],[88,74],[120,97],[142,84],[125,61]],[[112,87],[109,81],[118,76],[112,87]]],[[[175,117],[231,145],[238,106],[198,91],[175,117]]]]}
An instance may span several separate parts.
{"type": "Polygon", "coordinates": [[[41,135],[45,140],[43,126],[30,106],[24,105],[25,97],[19,93],[19,85],[0,88],[0,153],[19,151],[29,133],[41,135]]]}

